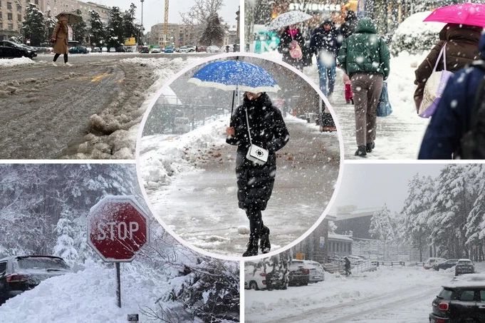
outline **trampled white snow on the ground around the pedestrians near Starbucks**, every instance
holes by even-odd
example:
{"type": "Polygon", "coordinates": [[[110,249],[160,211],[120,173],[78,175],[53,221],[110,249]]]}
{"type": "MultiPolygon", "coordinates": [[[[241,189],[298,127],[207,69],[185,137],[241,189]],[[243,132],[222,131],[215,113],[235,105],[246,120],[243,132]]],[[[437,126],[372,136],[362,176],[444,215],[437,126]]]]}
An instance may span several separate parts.
{"type": "MultiPolygon", "coordinates": [[[[281,54],[277,51],[263,53],[262,56],[281,61],[281,54]]],[[[392,57],[390,61],[390,76],[387,79],[387,88],[392,106],[392,115],[377,118],[377,135],[375,150],[367,154],[366,159],[416,159],[421,146],[422,137],[429,119],[417,116],[414,107],[414,70],[419,66],[427,53],[410,55],[407,52],[392,57]]],[[[330,98],[333,111],[335,111],[343,133],[345,146],[345,159],[358,159],[354,155],[357,148],[355,143],[355,113],[354,106],[345,103],[343,72],[337,69],[335,91],[330,98]]],[[[313,65],[304,68],[303,73],[309,76],[318,86],[318,69],[315,56],[313,65]]]]}

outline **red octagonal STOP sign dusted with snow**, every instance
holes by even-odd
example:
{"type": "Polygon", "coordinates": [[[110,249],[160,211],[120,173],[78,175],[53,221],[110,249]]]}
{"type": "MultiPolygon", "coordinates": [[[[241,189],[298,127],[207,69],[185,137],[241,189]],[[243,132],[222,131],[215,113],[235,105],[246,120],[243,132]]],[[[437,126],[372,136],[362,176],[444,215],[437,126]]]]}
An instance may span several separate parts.
{"type": "Polygon", "coordinates": [[[133,196],[106,196],[91,207],[88,245],[106,262],[130,262],[148,240],[148,217],[133,196]]]}

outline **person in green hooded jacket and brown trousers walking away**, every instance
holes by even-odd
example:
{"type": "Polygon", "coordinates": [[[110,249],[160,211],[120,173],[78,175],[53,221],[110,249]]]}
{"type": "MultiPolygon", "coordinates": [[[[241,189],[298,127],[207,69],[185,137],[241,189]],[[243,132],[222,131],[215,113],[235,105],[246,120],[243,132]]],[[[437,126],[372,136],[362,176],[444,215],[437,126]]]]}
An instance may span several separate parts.
{"type": "Polygon", "coordinates": [[[370,18],[358,21],[355,33],[343,42],[338,65],[350,76],[355,103],[356,156],[375,148],[376,111],[382,82],[390,72],[390,53],[370,18]]]}

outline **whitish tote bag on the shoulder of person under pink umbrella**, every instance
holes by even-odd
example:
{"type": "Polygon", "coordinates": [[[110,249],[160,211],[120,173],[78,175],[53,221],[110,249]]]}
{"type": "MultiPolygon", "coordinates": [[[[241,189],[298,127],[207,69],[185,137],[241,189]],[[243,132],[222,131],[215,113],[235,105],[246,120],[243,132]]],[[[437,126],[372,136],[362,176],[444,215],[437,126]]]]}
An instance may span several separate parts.
{"type": "Polygon", "coordinates": [[[442,97],[444,88],[447,86],[448,79],[453,75],[452,72],[447,71],[447,43],[444,43],[442,50],[439,52],[438,59],[434,64],[433,72],[426,81],[423,92],[423,100],[419,105],[418,114],[422,118],[429,118],[433,115],[439,100],[442,97]],[[436,71],[439,59],[443,56],[443,71],[436,71]]]}

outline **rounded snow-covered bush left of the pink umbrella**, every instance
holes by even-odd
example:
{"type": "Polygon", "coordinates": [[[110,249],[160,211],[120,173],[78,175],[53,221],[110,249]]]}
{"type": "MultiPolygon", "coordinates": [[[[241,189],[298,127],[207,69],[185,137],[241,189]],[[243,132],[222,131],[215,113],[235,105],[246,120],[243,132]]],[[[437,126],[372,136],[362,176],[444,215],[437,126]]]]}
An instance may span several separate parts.
{"type": "Polygon", "coordinates": [[[392,36],[390,51],[397,56],[402,51],[418,53],[429,51],[439,40],[439,31],[444,24],[437,22],[423,22],[431,11],[418,12],[409,16],[396,29],[392,36]]]}

